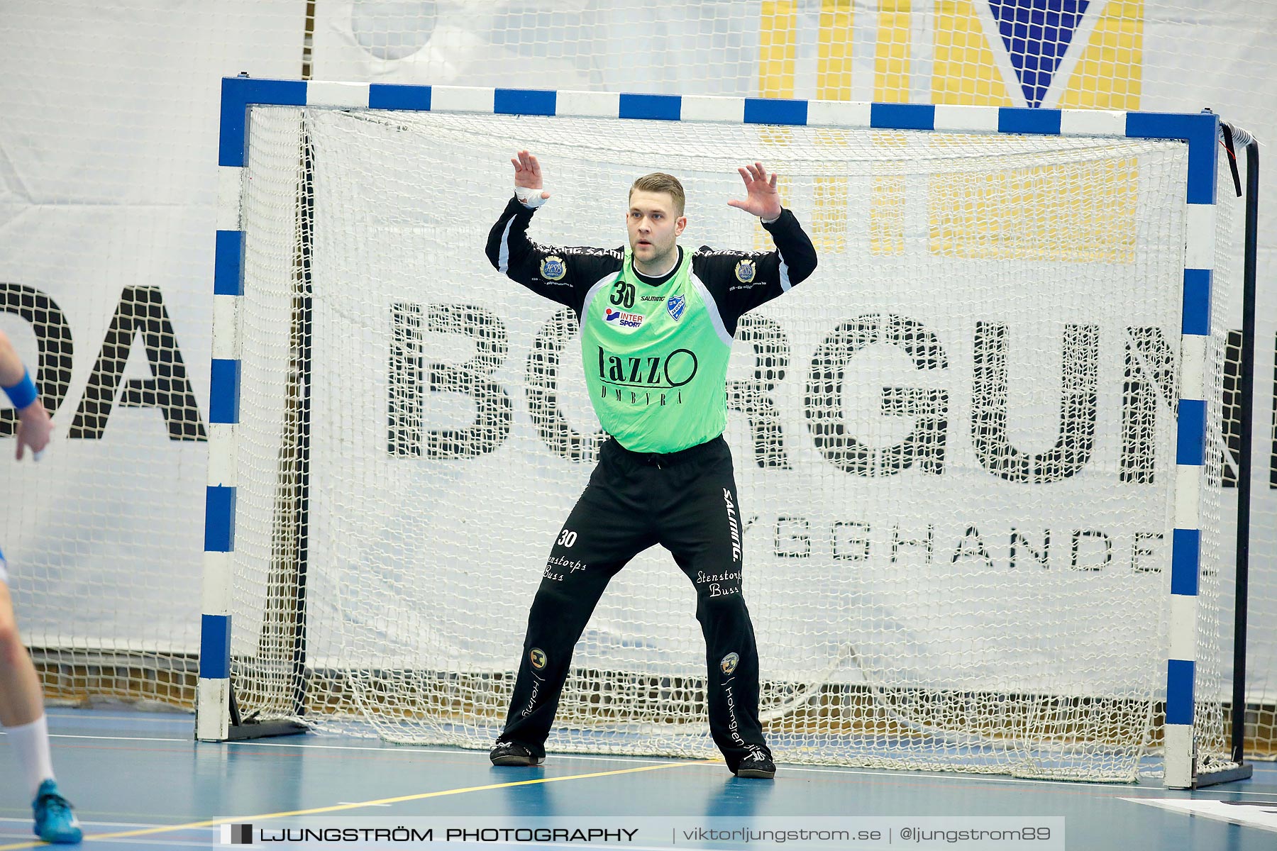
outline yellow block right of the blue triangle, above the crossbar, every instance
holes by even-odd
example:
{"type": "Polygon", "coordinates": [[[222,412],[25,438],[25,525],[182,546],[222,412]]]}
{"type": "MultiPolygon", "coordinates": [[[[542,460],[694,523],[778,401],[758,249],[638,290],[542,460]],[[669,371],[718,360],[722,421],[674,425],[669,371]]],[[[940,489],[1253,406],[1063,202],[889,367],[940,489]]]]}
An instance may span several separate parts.
{"type": "Polygon", "coordinates": [[[1138,110],[1143,69],[1144,0],[1108,0],[1056,106],[1138,110]]]}

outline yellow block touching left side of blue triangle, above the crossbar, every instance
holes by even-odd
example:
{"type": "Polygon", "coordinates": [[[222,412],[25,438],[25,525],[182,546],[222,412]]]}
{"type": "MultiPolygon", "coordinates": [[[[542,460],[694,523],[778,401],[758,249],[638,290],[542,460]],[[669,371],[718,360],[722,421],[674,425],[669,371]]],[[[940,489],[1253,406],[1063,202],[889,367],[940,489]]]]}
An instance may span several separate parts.
{"type": "MultiPolygon", "coordinates": [[[[978,0],[987,3],[988,0],[978,0]]],[[[1011,106],[990,37],[972,0],[936,0],[931,102],[1011,106]]]]}

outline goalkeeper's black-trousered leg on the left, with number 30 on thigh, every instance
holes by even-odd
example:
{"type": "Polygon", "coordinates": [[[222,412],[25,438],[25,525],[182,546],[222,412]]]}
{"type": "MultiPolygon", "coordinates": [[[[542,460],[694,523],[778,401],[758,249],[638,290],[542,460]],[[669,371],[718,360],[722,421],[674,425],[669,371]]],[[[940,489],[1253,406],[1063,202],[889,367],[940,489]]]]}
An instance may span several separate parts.
{"type": "Polygon", "coordinates": [[[608,581],[656,542],[627,492],[626,471],[605,452],[563,524],[527,616],[527,635],[510,714],[490,757],[497,766],[535,766],[545,757],[572,648],[608,581]]]}

